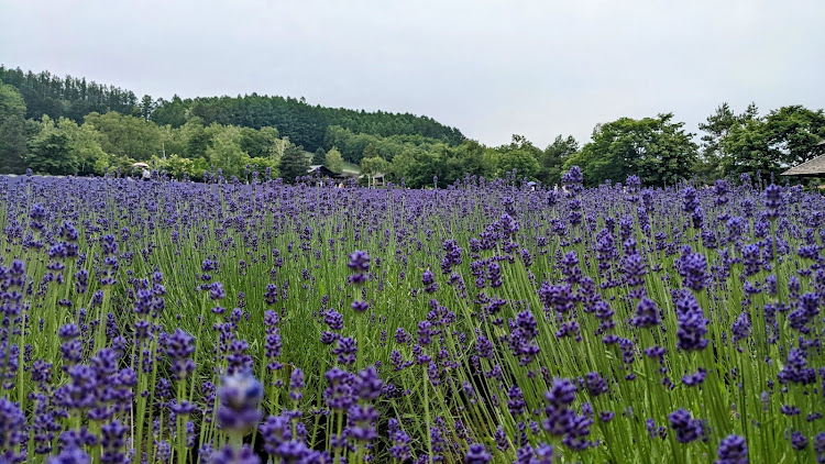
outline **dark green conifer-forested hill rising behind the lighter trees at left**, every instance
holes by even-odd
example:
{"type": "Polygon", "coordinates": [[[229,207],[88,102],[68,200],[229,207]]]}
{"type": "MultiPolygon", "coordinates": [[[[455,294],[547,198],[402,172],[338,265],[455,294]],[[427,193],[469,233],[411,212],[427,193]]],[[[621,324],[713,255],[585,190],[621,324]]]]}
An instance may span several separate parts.
{"type": "Polygon", "coordinates": [[[202,119],[205,124],[217,122],[253,129],[277,128],[282,136],[288,136],[310,152],[323,146],[327,129],[341,126],[353,133],[378,135],[420,135],[446,142],[462,143],[465,137],[455,128],[438,121],[409,113],[366,112],[343,108],[326,108],[308,104],[302,98],[268,97],[252,93],[239,97],[208,97],[172,100],[139,99],[131,90],[99,85],[85,78],[65,78],[48,71],[38,74],[0,66],[0,80],[20,91],[26,104],[26,118],[40,119],[47,114],[52,119],[65,117],[82,122],[90,112],[117,111],[146,118],[158,125],[178,128],[189,117],[202,119]]]}

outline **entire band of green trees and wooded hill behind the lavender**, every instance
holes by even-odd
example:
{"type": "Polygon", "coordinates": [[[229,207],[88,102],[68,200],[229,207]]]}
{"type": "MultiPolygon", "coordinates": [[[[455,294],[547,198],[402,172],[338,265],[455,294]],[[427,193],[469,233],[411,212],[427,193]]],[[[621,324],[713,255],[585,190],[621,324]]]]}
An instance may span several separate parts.
{"type": "Polygon", "coordinates": [[[546,185],[582,168],[587,185],[638,175],[645,185],[714,179],[805,162],[825,140],[825,113],[788,106],[760,114],[721,104],[701,136],[672,113],[596,124],[580,144],[559,135],[540,148],[521,135],[485,146],[432,119],[331,109],[302,99],[216,97],[138,100],[133,92],[48,73],[0,67],[0,172],[102,175],[147,162],[177,178],[249,176],[250,166],[292,181],[309,164],[340,173],[343,163],[367,175],[419,188],[466,175],[515,175],[546,185]],[[8,79],[8,80],[7,80],[8,79]],[[86,111],[86,112],[84,112],[86,111]],[[82,114],[81,114],[82,113],[82,114]]]}

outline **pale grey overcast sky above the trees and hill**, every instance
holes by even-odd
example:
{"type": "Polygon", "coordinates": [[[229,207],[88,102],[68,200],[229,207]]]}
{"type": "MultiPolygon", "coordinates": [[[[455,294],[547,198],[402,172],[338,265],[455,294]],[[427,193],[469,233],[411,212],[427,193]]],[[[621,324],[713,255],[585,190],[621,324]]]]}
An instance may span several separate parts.
{"type": "Polygon", "coordinates": [[[154,98],[430,115],[488,145],[825,107],[825,1],[0,0],[0,63],[154,98]]]}

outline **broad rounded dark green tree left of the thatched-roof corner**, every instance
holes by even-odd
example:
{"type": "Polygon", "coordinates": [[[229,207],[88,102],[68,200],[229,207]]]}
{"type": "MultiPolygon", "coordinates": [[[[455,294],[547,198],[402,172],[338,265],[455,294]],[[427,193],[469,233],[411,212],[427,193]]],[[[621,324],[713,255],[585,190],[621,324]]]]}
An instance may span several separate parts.
{"type": "Polygon", "coordinates": [[[673,122],[673,114],[657,118],[622,118],[597,124],[592,142],[570,156],[564,170],[582,168],[586,185],[607,179],[624,180],[638,175],[646,185],[664,186],[693,176],[697,146],[684,123],[673,122]]]}

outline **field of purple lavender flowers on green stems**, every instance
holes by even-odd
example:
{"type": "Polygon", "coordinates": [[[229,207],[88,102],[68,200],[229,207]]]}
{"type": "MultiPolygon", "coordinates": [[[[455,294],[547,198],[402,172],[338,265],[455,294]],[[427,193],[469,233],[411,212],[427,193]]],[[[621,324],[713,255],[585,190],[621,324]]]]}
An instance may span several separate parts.
{"type": "Polygon", "coordinates": [[[0,177],[0,461],[825,462],[823,197],[564,184],[0,177]]]}

